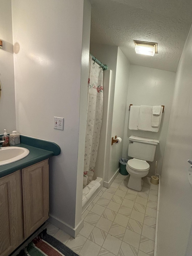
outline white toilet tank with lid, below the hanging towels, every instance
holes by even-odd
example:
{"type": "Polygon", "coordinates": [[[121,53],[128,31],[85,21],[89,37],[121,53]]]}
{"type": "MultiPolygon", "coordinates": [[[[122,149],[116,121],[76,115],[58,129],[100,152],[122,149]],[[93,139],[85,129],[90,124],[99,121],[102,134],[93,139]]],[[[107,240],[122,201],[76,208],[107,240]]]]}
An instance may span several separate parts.
{"type": "Polygon", "coordinates": [[[131,136],[129,137],[128,156],[152,162],[158,143],[159,140],[131,136]]]}

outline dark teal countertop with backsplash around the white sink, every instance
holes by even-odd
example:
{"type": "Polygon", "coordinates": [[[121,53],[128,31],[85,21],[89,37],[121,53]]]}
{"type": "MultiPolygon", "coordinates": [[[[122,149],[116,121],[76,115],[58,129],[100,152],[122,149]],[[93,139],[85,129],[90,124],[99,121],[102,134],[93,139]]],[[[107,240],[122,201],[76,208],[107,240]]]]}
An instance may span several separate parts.
{"type": "Polygon", "coordinates": [[[29,155],[19,161],[0,166],[0,177],[28,167],[32,164],[36,164],[53,155],[59,155],[61,152],[60,147],[56,143],[46,140],[20,135],[20,141],[21,144],[13,146],[29,149],[29,155]]]}

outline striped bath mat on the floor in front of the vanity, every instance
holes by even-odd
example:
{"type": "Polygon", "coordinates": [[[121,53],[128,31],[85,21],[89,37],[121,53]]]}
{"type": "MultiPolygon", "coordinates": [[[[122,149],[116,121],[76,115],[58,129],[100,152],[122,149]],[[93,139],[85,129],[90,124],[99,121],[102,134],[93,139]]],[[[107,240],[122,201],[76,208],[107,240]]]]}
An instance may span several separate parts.
{"type": "Polygon", "coordinates": [[[44,229],[17,256],[79,256],[44,229]]]}

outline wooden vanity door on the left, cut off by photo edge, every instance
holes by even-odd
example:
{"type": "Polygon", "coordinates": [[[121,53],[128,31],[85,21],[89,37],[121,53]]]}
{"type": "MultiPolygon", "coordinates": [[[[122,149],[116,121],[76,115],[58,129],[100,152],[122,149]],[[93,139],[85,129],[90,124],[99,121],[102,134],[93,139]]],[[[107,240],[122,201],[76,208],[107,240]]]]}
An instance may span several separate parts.
{"type": "Polygon", "coordinates": [[[17,245],[16,173],[0,178],[0,256],[17,245]]]}

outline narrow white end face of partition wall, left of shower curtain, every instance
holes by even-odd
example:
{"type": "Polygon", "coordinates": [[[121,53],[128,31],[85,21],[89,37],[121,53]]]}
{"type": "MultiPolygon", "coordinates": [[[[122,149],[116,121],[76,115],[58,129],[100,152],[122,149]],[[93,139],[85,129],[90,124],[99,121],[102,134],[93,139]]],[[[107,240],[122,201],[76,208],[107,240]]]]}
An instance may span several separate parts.
{"type": "Polygon", "coordinates": [[[81,220],[82,213],[82,188],[85,155],[85,134],[87,125],[87,92],[89,69],[89,45],[91,31],[91,4],[88,0],[83,3],[83,30],[82,30],[82,59],[81,59],[81,89],[80,89],[80,116],[79,116],[79,143],[77,163],[77,188],[76,188],[76,224],[81,220]]]}

